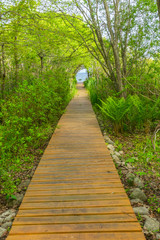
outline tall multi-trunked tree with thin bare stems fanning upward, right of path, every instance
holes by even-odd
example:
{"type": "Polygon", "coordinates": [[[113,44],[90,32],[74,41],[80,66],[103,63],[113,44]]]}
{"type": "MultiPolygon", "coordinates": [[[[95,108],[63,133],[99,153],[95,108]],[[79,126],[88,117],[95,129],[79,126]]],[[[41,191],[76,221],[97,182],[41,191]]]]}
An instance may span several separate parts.
{"type": "MultiPolygon", "coordinates": [[[[147,7],[146,13],[143,8],[138,9],[143,1],[51,0],[51,2],[54,9],[61,12],[62,18],[79,34],[88,51],[99,61],[116,91],[125,96],[126,78],[131,75],[136,61],[140,67],[142,62],[140,59],[145,59],[147,54],[149,41],[145,42],[144,34],[147,28],[148,33],[150,31],[150,25],[146,24],[149,15],[147,7]],[[68,16],[72,16],[73,19],[68,16]],[[81,18],[86,28],[90,28],[90,36],[76,28],[75,18],[81,18]]],[[[150,20],[151,17],[149,16],[150,20]]]]}

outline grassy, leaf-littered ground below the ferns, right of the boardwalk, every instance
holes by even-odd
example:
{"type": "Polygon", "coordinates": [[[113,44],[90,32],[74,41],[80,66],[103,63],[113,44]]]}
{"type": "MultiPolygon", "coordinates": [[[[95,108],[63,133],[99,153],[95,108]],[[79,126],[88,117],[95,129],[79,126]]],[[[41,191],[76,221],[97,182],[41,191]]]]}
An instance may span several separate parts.
{"type": "MultiPolygon", "coordinates": [[[[124,152],[123,161],[133,166],[132,173],[137,175],[144,182],[144,191],[147,196],[147,204],[151,212],[158,217],[160,213],[160,151],[154,152],[151,143],[151,135],[144,135],[142,132],[136,134],[125,134],[110,138],[116,142],[117,149],[124,152]]],[[[160,134],[157,136],[157,143],[160,142],[160,134]]],[[[125,182],[125,175],[121,177],[125,182]]],[[[128,189],[127,182],[125,187],[128,189]]]]}

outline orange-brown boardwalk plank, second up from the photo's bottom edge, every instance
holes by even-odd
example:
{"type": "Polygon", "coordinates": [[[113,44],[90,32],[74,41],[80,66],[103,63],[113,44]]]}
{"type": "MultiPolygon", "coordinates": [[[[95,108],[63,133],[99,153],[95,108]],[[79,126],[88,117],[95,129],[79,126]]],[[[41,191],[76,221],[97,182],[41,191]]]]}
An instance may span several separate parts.
{"type": "Polygon", "coordinates": [[[44,233],[85,233],[85,232],[140,232],[138,222],[114,223],[79,223],[79,224],[39,224],[39,225],[13,225],[11,234],[44,234],[44,233]]]}

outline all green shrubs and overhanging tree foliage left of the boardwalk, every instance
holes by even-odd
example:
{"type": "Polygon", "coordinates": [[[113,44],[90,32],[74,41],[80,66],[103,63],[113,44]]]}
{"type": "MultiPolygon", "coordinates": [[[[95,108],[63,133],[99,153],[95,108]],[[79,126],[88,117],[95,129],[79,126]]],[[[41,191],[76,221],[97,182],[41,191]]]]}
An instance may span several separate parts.
{"type": "MultiPolygon", "coordinates": [[[[40,5],[0,3],[0,191],[9,196],[74,95],[74,70],[86,59],[70,24],[40,5]]],[[[89,32],[80,19],[71,19],[89,32]]]]}

